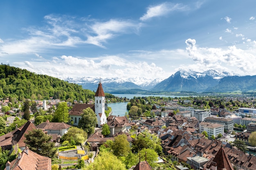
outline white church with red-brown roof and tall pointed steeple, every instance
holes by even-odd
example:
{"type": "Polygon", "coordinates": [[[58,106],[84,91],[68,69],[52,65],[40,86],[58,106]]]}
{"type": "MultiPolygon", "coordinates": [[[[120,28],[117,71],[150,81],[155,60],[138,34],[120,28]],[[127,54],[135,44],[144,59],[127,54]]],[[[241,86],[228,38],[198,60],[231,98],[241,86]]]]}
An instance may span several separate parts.
{"type": "Polygon", "coordinates": [[[74,126],[78,126],[78,122],[81,119],[81,114],[83,109],[90,107],[97,116],[97,126],[101,127],[103,124],[107,123],[107,118],[105,115],[105,94],[102,88],[101,81],[99,81],[98,89],[94,96],[95,104],[80,104],[76,103],[74,107],[69,112],[70,120],[74,122],[74,126]]]}

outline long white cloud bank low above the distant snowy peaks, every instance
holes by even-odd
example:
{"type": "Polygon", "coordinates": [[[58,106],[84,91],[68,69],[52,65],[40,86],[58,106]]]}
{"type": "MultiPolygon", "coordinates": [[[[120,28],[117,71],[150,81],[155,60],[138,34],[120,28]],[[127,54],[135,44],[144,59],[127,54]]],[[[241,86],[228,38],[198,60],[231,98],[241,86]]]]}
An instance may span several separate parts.
{"type": "Polygon", "coordinates": [[[130,61],[119,56],[101,56],[97,58],[81,58],[72,56],[53,57],[45,61],[24,61],[14,63],[19,68],[37,74],[47,74],[58,78],[67,77],[122,77],[134,75],[149,79],[166,78],[166,73],[155,63],[130,61]],[[145,74],[147,73],[147,74],[145,74]]]}

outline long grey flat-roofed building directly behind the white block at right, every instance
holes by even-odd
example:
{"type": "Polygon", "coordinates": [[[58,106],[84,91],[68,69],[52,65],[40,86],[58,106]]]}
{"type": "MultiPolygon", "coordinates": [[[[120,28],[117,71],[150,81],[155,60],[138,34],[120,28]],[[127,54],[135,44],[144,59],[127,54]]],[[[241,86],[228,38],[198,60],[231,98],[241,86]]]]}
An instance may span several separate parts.
{"type": "Polygon", "coordinates": [[[207,117],[204,122],[222,124],[224,125],[224,131],[228,133],[234,131],[234,122],[230,118],[207,117]]]}

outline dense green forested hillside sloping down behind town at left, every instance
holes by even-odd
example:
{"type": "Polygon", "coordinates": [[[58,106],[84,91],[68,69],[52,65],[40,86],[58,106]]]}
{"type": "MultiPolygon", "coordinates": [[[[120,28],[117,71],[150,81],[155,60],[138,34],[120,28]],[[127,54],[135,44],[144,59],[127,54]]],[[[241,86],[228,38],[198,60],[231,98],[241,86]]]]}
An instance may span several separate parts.
{"type": "Polygon", "coordinates": [[[0,98],[16,98],[17,100],[55,99],[71,101],[94,98],[94,92],[83,89],[81,85],[68,83],[58,78],[40,75],[11,67],[0,65],[0,98]]]}

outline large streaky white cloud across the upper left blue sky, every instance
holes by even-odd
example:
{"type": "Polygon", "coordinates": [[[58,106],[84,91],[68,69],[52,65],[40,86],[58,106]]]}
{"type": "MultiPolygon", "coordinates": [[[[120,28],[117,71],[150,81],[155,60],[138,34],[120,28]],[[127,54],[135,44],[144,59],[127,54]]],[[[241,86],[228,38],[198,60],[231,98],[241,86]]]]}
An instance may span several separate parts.
{"type": "MultiPolygon", "coordinates": [[[[137,34],[142,26],[131,20],[96,22],[70,16],[46,15],[47,25],[23,28],[28,34],[24,39],[2,41],[0,55],[35,54],[49,49],[93,44],[105,48],[103,43],[122,34],[137,34]]],[[[24,36],[24,37],[25,37],[24,36]]]]}

